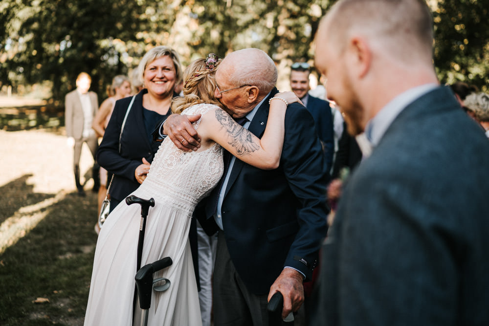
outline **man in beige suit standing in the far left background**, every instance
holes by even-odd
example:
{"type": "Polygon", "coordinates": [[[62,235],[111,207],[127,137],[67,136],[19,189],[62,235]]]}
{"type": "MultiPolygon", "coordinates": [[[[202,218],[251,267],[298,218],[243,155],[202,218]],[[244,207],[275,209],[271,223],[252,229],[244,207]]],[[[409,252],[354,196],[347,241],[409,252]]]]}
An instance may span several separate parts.
{"type": "Polygon", "coordinates": [[[67,93],[65,97],[67,144],[73,147],[73,171],[79,196],[85,196],[83,185],[80,183],[80,155],[84,142],[89,146],[94,160],[92,168],[93,191],[98,191],[100,186],[99,166],[95,158],[98,148],[97,135],[91,128],[93,117],[98,109],[98,99],[95,92],[89,91],[90,84],[90,75],[86,72],[80,73],[76,78],[76,89],[67,93]]]}

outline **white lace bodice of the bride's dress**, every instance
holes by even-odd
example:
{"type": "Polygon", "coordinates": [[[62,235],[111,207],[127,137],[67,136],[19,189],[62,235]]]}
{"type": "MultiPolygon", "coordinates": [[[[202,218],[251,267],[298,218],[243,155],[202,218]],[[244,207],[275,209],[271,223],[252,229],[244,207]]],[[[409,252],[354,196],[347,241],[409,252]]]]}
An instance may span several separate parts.
{"type": "MultiPolygon", "coordinates": [[[[182,114],[204,115],[212,104],[197,104],[182,114]]],[[[193,123],[198,130],[200,120],[193,123]]],[[[148,177],[141,187],[148,187],[155,200],[171,199],[178,207],[193,211],[197,203],[216,186],[222,176],[222,147],[215,143],[201,152],[180,151],[167,137],[160,145],[148,177]]]]}

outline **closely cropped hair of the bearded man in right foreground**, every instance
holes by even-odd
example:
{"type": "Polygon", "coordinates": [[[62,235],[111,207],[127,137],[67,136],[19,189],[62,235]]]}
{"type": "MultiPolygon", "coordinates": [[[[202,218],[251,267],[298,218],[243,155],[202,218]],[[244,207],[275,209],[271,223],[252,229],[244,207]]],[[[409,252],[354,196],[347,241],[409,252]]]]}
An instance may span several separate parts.
{"type": "Polygon", "coordinates": [[[361,35],[400,60],[431,60],[432,22],[424,0],[339,0],[320,28],[327,28],[339,51],[352,36],[361,35]]]}

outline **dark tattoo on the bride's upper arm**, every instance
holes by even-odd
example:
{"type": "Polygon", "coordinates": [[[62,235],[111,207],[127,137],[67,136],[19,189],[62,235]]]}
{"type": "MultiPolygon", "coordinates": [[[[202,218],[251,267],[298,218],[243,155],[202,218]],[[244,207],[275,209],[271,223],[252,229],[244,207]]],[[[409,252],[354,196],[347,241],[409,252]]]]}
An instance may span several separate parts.
{"type": "Polygon", "coordinates": [[[260,146],[253,141],[251,132],[237,124],[225,111],[216,110],[216,119],[231,136],[228,144],[236,148],[238,155],[244,156],[260,149],[260,146]]]}

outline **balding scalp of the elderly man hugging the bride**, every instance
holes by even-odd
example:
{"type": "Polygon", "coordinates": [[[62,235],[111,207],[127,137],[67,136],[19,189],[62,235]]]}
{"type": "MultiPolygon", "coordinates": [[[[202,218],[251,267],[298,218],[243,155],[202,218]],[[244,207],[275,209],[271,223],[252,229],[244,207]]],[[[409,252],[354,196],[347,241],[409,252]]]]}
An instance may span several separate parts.
{"type": "Polygon", "coordinates": [[[260,89],[260,94],[268,94],[275,87],[278,78],[277,67],[264,51],[257,48],[242,49],[231,52],[224,58],[225,62],[228,60],[233,60],[229,75],[231,84],[256,86],[260,89]]]}

